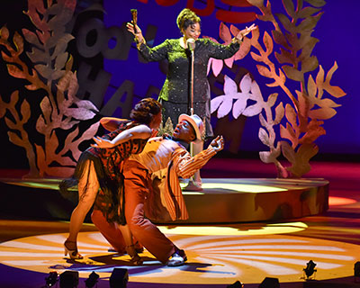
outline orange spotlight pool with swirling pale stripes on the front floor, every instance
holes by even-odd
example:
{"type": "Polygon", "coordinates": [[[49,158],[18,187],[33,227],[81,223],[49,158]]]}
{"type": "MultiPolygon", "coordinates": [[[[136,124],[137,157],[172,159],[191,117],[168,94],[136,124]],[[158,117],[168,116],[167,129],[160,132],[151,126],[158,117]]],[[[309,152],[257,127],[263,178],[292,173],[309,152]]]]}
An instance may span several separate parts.
{"type": "MultiPolygon", "coordinates": [[[[289,223],[291,225],[303,226],[296,222],[289,223]]],[[[261,229],[255,223],[238,224],[237,227],[261,229]]],[[[171,229],[169,231],[171,233],[171,229]]],[[[105,281],[109,279],[113,268],[126,267],[131,281],[144,283],[144,286],[147,283],[158,283],[167,287],[170,284],[183,284],[186,279],[188,284],[222,284],[226,287],[236,280],[259,283],[254,282],[254,279],[261,281],[258,275],[276,277],[280,282],[298,282],[304,264],[308,262],[304,259],[312,259],[318,264],[316,267],[319,266],[321,270],[317,275],[318,280],[349,277],[354,275],[358,254],[358,246],[354,244],[302,238],[298,235],[169,235],[176,245],[184,248],[189,263],[181,269],[172,269],[163,266],[148,251],[144,251],[145,267],[151,267],[144,270],[139,269],[139,266],[131,266],[128,255],[116,257],[109,254],[108,242],[94,235],[100,233],[79,233],[78,247],[85,258],[81,262],[76,261],[76,266],[63,257],[61,248],[67,233],[31,236],[0,243],[0,263],[48,274],[49,267],[57,269],[59,273],[75,269],[84,280],[95,271],[105,281]],[[45,257],[45,253],[48,256],[45,257]],[[191,269],[193,264],[196,269],[191,269]]],[[[84,282],[82,285],[85,286],[84,282]]]]}

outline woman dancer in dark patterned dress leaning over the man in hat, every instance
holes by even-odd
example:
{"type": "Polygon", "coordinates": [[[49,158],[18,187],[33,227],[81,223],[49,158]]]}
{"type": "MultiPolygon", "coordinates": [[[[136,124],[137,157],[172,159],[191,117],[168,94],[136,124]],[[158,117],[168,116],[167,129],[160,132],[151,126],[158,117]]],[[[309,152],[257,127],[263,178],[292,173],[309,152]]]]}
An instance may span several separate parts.
{"type": "Polygon", "coordinates": [[[71,214],[69,235],[64,243],[65,256],[68,253],[71,259],[83,258],[77,252],[77,234],[97,197],[102,205],[96,208],[107,220],[119,224],[127,252],[134,262],[139,260],[132,246],[130,230],[125,225],[125,216],[118,212],[123,211],[120,207],[123,203],[122,161],[141,152],[148,139],[155,135],[161,122],[161,104],[152,98],[142,99],[131,110],[130,119],[102,119],[102,124],[112,127],[113,131],[102,138],[94,138],[96,144],[81,154],[74,175],[59,184],[65,197],[68,196],[67,188],[77,184],[78,190],[78,204],[71,214]]]}

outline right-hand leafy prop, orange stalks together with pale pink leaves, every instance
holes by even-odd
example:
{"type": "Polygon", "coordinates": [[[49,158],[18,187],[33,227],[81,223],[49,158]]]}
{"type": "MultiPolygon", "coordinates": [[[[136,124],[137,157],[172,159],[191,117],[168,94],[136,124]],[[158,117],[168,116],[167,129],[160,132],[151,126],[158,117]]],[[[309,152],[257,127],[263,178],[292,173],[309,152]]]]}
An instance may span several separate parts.
{"type": "MultiPolygon", "coordinates": [[[[272,37],[265,31],[260,43],[260,31],[252,31],[250,39],[251,46],[257,49],[257,53],[251,51],[251,57],[257,62],[257,71],[261,76],[274,80],[267,84],[270,87],[278,87],[283,91],[278,94],[271,94],[265,102],[255,81],[249,76],[244,76],[238,87],[228,76],[225,77],[224,95],[211,100],[211,112],[218,110],[218,117],[227,115],[231,109],[234,118],[240,114],[254,116],[259,114],[261,125],[259,139],[265,144],[269,151],[260,152],[260,158],[265,163],[274,163],[279,177],[302,177],[311,169],[309,165],[311,157],[318,153],[318,146],[314,143],[325,129],[321,126],[324,120],[333,117],[337,112],[336,107],[340,106],[333,100],[326,98],[329,95],[339,98],[345,92],[338,86],[330,85],[333,73],[337,70],[338,64],[330,68],[327,76],[324,77],[324,69],[319,65],[318,58],[311,55],[318,39],[311,36],[313,29],[320,20],[321,7],[325,4],[323,0],[305,0],[308,6],[303,6],[303,1],[297,1],[295,9],[293,0],[283,0],[286,14],[273,14],[270,1],[264,4],[264,0],[247,0],[248,3],[257,6],[261,15],[257,18],[261,21],[273,23],[275,29],[272,37]],[[280,24],[276,21],[279,20],[280,24]],[[281,27],[284,29],[282,31],[281,27]],[[274,45],[278,45],[280,53],[274,51],[274,45]],[[272,60],[275,56],[277,62],[272,60]],[[319,67],[319,72],[314,80],[311,72],[319,67]],[[289,81],[299,84],[299,90],[292,91],[289,81]],[[277,98],[286,100],[275,105],[277,98]],[[247,107],[247,100],[255,101],[247,107]],[[235,103],[233,103],[235,101],[235,103]],[[275,117],[272,107],[275,106],[275,117]],[[265,112],[265,115],[262,112],[265,112]],[[285,117],[284,117],[285,116],[285,117]],[[284,125],[284,122],[286,124],[284,125]],[[276,125],[280,125],[280,136],[282,140],[276,141],[276,125]],[[291,163],[291,166],[283,166],[277,159],[283,153],[284,157],[291,163]]],[[[234,28],[231,28],[233,31],[234,28]]],[[[235,35],[235,30],[233,34],[235,35]]],[[[229,29],[221,23],[220,35],[227,35],[229,40],[229,29]],[[222,31],[222,33],[221,33],[222,31]]],[[[221,37],[223,39],[223,37],[221,37]]],[[[225,40],[225,42],[226,42],[225,40]]],[[[230,62],[232,65],[232,62],[230,62]]],[[[214,74],[220,73],[220,62],[211,61],[214,74]]],[[[221,65],[222,68],[222,65],[221,65]]]]}

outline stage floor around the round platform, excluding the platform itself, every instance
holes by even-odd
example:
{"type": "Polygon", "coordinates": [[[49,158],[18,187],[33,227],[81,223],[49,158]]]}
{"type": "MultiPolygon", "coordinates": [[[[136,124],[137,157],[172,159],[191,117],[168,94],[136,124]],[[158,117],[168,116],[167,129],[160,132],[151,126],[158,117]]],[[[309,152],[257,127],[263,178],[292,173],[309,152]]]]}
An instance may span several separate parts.
{"type": "MultiPolygon", "coordinates": [[[[10,213],[12,217],[0,220],[0,287],[42,287],[50,271],[64,270],[79,271],[78,287],[85,287],[92,271],[100,275],[98,287],[109,287],[114,267],[128,269],[130,288],[225,288],[236,280],[253,288],[265,277],[278,278],[282,288],[360,287],[354,278],[354,265],[360,261],[360,164],[313,162],[311,166],[307,178],[329,181],[329,211],[277,221],[161,226],[186,250],[189,260],[182,267],[160,266],[148,252],[142,254],[145,266],[130,266],[127,256],[107,252],[108,245],[92,224],[85,224],[79,236],[85,259],[70,262],[62,250],[66,221],[46,219],[41,213],[31,218],[10,213]],[[302,268],[310,260],[317,264],[316,281],[305,282],[302,268]]],[[[0,171],[2,178],[22,174],[0,171]]],[[[202,177],[274,178],[275,168],[259,160],[214,158],[202,169],[202,177]]],[[[7,207],[22,201],[12,197],[6,202],[6,193],[0,191],[7,207]]],[[[31,196],[26,204],[31,204],[31,196]]]]}

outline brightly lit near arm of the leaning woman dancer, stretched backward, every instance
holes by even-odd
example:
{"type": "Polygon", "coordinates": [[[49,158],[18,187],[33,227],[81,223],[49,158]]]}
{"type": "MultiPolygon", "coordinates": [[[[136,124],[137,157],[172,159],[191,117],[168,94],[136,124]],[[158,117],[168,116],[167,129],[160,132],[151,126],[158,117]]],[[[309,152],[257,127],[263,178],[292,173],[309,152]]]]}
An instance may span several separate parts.
{"type": "Polygon", "coordinates": [[[95,144],[91,146],[95,148],[113,148],[130,139],[148,139],[150,136],[151,129],[146,125],[139,125],[128,130],[123,130],[112,140],[94,137],[95,144]]]}

